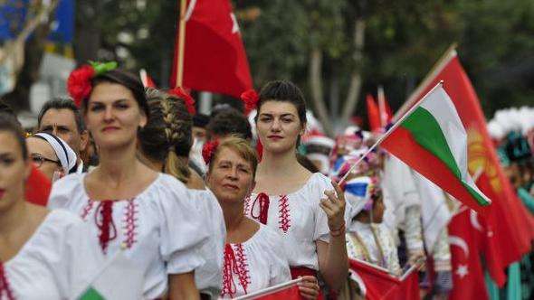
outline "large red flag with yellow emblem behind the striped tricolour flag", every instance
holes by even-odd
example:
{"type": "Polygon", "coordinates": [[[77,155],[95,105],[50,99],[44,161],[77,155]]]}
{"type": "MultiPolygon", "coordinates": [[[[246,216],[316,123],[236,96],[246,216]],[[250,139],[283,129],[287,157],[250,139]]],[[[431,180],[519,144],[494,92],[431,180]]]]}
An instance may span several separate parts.
{"type": "Polygon", "coordinates": [[[482,172],[477,186],[492,203],[480,216],[486,233],[482,237],[481,250],[486,258],[491,277],[502,286],[505,267],[520,260],[529,252],[534,239],[534,217],[518,199],[508,178],[502,171],[497,153],[491,143],[480,100],[471,80],[458,59],[457,53],[447,52],[441,63],[427,78],[422,89],[408,99],[397,115],[415,105],[440,80],[451,97],[468,135],[468,165],[470,173],[482,172]]]}

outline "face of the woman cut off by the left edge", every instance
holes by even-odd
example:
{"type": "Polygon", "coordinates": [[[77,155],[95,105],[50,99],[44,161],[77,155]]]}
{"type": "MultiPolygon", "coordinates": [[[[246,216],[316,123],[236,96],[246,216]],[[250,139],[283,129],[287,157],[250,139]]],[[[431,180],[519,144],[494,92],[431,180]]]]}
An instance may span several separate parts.
{"type": "Polygon", "coordinates": [[[14,134],[0,131],[0,211],[7,211],[24,198],[24,182],[31,168],[14,134]]]}

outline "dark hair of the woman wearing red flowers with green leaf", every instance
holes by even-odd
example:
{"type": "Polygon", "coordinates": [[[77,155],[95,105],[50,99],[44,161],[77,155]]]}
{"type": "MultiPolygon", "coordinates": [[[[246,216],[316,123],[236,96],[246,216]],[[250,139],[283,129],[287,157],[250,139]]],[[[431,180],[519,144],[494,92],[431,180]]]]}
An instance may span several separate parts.
{"type": "MultiPolygon", "coordinates": [[[[139,108],[141,108],[143,112],[145,112],[145,115],[149,117],[150,109],[148,108],[147,97],[145,96],[145,87],[138,76],[126,70],[110,70],[91,79],[92,89],[102,82],[117,83],[126,89],[129,89],[136,99],[136,102],[138,102],[139,108]]],[[[89,97],[91,97],[91,95],[89,97]]],[[[84,112],[87,112],[89,97],[84,98],[81,101],[81,107],[83,108],[84,112]]]]}

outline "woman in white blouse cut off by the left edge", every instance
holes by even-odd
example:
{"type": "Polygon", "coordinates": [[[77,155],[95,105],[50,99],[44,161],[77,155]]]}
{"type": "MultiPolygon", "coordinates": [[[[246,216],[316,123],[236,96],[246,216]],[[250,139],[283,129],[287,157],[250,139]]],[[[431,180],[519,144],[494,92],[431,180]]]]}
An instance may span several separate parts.
{"type": "Polygon", "coordinates": [[[32,161],[14,117],[0,115],[0,299],[71,299],[100,267],[83,222],[24,201],[32,161]]]}

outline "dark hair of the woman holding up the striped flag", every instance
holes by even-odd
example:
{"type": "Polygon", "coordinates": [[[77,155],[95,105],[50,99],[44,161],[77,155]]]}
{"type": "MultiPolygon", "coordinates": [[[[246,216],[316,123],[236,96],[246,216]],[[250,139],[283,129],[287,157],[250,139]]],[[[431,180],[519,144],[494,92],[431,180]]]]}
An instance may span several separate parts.
{"type": "Polygon", "coordinates": [[[288,80],[274,80],[265,84],[260,91],[258,100],[258,114],[255,120],[258,120],[260,109],[263,103],[267,101],[290,102],[297,108],[300,124],[306,124],[306,101],[304,95],[293,82],[288,80]]]}

